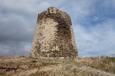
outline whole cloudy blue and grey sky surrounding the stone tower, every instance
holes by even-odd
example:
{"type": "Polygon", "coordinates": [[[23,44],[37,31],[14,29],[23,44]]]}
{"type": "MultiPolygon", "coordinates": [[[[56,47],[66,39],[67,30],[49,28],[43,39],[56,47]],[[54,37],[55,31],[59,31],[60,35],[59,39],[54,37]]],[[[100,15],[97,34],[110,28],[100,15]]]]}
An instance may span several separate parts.
{"type": "Polygon", "coordinates": [[[71,16],[80,56],[115,56],[115,0],[0,0],[0,55],[29,55],[37,14],[71,16]]]}

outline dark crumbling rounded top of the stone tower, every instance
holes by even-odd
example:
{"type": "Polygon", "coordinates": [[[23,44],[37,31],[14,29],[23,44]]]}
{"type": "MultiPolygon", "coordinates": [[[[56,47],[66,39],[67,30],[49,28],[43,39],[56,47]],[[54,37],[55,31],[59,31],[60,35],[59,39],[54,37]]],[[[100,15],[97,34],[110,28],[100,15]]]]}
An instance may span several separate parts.
{"type": "Polygon", "coordinates": [[[66,12],[57,9],[56,7],[49,7],[46,11],[43,11],[41,14],[39,14],[38,22],[42,18],[46,17],[53,18],[58,22],[64,21],[67,24],[72,25],[70,16],[66,12]]]}

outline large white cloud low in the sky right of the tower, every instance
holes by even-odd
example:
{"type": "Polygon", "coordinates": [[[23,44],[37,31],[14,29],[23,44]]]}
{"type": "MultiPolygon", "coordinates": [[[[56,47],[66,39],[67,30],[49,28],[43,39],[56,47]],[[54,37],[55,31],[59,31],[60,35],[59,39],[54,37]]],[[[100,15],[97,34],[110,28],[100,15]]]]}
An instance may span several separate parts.
{"type": "Polygon", "coordinates": [[[115,54],[115,20],[107,21],[86,28],[75,26],[78,51],[80,55],[98,56],[115,54]]]}

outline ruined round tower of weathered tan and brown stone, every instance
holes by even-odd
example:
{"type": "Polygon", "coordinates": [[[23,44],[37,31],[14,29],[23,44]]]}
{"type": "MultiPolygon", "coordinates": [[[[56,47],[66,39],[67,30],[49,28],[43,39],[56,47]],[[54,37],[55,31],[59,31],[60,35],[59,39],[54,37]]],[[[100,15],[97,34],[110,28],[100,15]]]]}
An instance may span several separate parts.
{"type": "Polygon", "coordinates": [[[55,7],[38,15],[32,45],[33,57],[76,57],[70,16],[55,7]]]}

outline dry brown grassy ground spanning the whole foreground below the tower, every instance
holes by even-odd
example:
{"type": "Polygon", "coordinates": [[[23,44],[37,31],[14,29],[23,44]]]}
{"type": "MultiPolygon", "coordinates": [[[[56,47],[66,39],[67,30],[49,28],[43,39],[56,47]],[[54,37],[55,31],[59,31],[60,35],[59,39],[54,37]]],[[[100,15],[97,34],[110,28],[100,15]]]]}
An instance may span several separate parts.
{"type": "Polygon", "coordinates": [[[0,76],[115,76],[115,58],[0,57],[0,76]]]}

